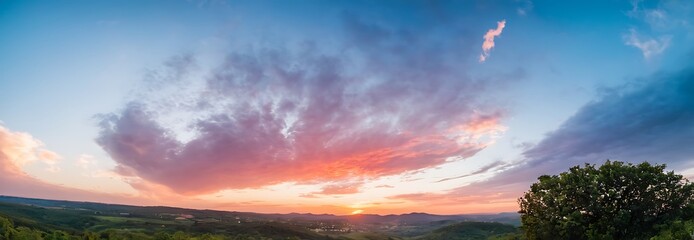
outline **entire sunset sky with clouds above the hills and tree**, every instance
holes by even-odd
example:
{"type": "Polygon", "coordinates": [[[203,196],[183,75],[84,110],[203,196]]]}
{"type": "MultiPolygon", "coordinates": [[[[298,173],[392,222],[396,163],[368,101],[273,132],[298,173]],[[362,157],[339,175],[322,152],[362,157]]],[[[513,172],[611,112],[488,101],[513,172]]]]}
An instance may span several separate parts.
{"type": "Polygon", "coordinates": [[[0,1],[0,194],[518,210],[606,160],[694,179],[694,2],[0,1]]]}

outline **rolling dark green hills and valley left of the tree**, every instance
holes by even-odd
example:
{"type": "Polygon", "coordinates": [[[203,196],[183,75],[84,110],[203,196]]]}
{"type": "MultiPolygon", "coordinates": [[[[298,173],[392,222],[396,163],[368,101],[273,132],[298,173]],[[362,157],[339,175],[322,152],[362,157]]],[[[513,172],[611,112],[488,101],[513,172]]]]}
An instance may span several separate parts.
{"type": "MultiPolygon", "coordinates": [[[[445,239],[458,235],[467,237],[473,233],[504,233],[499,230],[501,228],[490,228],[489,223],[475,225],[471,222],[477,219],[518,221],[517,214],[260,214],[9,196],[0,196],[0,217],[9,219],[17,229],[22,228],[31,234],[48,236],[60,232],[87,239],[90,239],[86,236],[89,234],[99,235],[94,239],[151,239],[153,236],[167,239],[161,236],[175,234],[179,239],[210,234],[219,239],[445,239]]],[[[511,225],[498,225],[515,229],[511,225]]]]}

